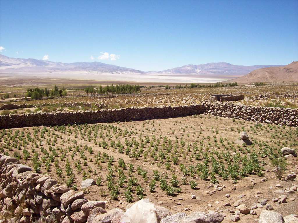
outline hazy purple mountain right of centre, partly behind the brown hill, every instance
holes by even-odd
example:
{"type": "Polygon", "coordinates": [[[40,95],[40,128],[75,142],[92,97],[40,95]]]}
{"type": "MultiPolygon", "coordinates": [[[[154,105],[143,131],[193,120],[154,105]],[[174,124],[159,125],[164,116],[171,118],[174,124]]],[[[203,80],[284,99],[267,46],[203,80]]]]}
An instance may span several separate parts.
{"type": "Polygon", "coordinates": [[[256,66],[238,66],[230,63],[206,63],[199,65],[185,65],[164,71],[158,71],[160,74],[198,74],[208,76],[234,76],[241,77],[249,72],[264,67],[283,66],[283,65],[256,65],[256,66]]]}

